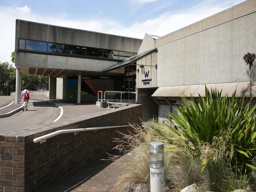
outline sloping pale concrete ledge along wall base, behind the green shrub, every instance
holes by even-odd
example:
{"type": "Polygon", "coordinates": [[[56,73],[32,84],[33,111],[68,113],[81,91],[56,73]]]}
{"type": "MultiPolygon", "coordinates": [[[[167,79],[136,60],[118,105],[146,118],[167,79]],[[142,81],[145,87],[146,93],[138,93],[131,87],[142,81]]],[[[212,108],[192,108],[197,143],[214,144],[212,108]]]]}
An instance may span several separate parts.
{"type": "MultiPolygon", "coordinates": [[[[252,84],[252,86],[255,87],[256,81],[252,84]]],[[[233,92],[236,90],[238,97],[243,96],[243,94],[245,94],[245,97],[250,97],[250,82],[207,84],[206,87],[208,89],[222,90],[222,96],[232,96],[233,92]]],[[[198,94],[205,97],[205,85],[158,87],[152,94],[152,97],[198,97],[198,94]]],[[[252,90],[252,96],[256,96],[256,89],[252,90]]]]}

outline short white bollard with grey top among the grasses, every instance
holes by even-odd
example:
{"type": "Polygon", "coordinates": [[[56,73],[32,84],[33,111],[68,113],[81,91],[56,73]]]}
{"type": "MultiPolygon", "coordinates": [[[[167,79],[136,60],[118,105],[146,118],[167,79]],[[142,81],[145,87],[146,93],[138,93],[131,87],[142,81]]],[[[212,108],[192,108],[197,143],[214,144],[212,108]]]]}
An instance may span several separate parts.
{"type": "Polygon", "coordinates": [[[164,192],[163,143],[149,144],[150,192],[164,192]]]}

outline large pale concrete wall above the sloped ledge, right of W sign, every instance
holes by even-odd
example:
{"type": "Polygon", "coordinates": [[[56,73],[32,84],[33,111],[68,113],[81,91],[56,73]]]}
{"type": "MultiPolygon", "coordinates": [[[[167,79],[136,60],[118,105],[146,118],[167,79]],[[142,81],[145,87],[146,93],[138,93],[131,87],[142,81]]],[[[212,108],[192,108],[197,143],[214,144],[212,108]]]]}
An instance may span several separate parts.
{"type": "MultiPolygon", "coordinates": [[[[249,0],[154,40],[157,87],[249,81],[243,56],[256,52],[255,12],[256,1],[249,0]]],[[[154,43],[145,36],[139,51],[154,43]]]]}

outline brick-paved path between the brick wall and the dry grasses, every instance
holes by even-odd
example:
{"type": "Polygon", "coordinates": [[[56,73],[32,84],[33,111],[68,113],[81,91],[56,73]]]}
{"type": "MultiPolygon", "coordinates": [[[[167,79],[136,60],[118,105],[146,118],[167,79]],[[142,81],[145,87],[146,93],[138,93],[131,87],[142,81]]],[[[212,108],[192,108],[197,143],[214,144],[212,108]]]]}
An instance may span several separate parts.
{"type": "Polygon", "coordinates": [[[124,166],[134,158],[131,151],[114,162],[96,161],[41,192],[118,192],[115,185],[125,174],[124,166]]]}

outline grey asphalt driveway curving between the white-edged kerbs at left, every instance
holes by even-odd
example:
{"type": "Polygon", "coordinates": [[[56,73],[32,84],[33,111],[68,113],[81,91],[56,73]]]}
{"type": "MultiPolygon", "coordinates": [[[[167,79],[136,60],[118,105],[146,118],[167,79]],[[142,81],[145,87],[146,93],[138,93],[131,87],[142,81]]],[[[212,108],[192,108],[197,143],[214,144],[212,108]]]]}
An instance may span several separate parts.
{"type": "Polygon", "coordinates": [[[28,111],[20,111],[12,116],[0,118],[0,133],[50,123],[58,116],[58,107],[52,107],[47,102],[30,100],[28,111]]]}

